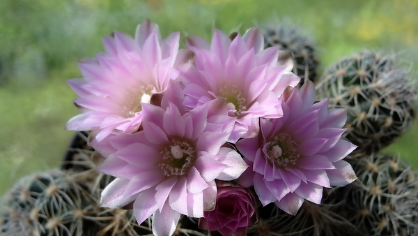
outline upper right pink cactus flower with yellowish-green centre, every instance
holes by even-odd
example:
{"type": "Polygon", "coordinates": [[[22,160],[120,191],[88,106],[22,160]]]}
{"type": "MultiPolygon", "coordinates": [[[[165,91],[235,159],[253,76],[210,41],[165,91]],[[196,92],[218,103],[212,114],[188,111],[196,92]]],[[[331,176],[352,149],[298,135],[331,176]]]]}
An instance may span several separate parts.
{"type": "Polygon", "coordinates": [[[185,105],[195,108],[226,98],[229,115],[237,118],[231,142],[258,135],[259,117],[281,117],[277,97],[300,80],[291,73],[291,66],[277,64],[278,47],[263,50],[263,34],[256,27],[233,40],[216,30],[211,44],[199,36],[189,36],[187,47],[196,57],[180,74],[185,105]]]}

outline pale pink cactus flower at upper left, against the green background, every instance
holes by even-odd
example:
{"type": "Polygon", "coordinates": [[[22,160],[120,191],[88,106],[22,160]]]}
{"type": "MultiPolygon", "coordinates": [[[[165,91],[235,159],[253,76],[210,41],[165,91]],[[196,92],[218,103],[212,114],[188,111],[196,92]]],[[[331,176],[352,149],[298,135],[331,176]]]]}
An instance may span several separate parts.
{"type": "Polygon", "coordinates": [[[68,121],[65,128],[98,133],[102,140],[111,131],[137,131],[142,120],[142,103],[151,94],[167,89],[179,71],[173,68],[180,34],[161,39],[157,24],[145,20],[135,38],[114,32],[104,36],[104,54],[79,63],[83,78],[68,80],[79,96],[75,104],[82,114],[68,121]]]}

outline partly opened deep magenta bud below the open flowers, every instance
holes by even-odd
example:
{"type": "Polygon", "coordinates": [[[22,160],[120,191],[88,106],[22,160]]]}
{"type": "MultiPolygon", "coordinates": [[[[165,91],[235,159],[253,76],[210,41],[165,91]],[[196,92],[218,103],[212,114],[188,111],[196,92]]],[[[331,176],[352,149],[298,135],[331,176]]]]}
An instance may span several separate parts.
{"type": "Polygon", "coordinates": [[[246,235],[247,227],[256,223],[254,199],[247,189],[232,182],[218,182],[216,207],[204,212],[199,227],[209,230],[210,235],[246,235]]]}

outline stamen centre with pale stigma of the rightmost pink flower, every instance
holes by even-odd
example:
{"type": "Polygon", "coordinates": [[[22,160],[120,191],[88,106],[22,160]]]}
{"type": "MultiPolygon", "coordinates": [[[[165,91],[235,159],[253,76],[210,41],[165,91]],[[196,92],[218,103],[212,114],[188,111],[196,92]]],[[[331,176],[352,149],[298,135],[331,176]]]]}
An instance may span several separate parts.
{"type": "Polygon", "coordinates": [[[297,153],[297,142],[287,133],[274,135],[267,145],[268,158],[277,168],[295,165],[300,156],[297,153]]]}

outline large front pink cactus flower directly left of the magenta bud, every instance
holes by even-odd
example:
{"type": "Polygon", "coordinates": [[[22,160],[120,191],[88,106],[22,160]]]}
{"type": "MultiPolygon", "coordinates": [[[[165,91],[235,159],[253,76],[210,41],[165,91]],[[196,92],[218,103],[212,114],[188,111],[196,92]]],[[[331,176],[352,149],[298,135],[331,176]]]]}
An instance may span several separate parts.
{"type": "Polygon", "coordinates": [[[160,236],[173,234],[180,214],[203,217],[214,209],[215,179],[237,179],[248,166],[238,152],[222,147],[235,123],[226,101],[187,111],[183,99],[172,80],[161,106],[141,103],[143,129],[92,142],[105,158],[99,170],[117,177],[102,192],[102,206],[133,202],[137,221],[153,215],[153,233],[160,236]]]}

